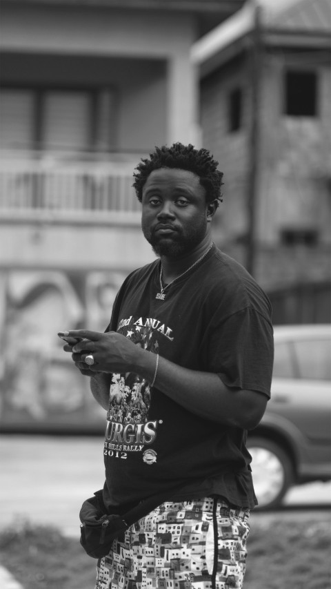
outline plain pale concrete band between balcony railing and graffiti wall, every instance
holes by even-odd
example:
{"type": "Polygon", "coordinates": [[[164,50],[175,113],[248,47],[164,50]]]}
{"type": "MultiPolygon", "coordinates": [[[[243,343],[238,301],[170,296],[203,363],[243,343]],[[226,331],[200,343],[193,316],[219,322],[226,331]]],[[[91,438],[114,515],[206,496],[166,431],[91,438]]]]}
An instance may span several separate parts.
{"type": "Polygon", "coordinates": [[[155,259],[140,226],[1,224],[0,269],[121,269],[155,259]]]}

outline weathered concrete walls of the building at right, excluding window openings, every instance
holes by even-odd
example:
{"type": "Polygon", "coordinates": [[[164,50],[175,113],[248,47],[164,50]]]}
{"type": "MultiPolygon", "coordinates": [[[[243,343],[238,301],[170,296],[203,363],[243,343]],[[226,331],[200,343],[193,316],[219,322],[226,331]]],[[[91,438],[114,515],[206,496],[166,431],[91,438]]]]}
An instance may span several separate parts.
{"type": "MultiPolygon", "coordinates": [[[[314,65],[315,64],[315,65],[314,65]]],[[[317,117],[283,114],[285,66],[303,66],[301,57],[270,50],[263,57],[259,110],[259,158],[254,276],[267,289],[331,278],[330,170],[331,68],[315,55],[319,76],[317,117]],[[318,65],[319,64],[319,65],[318,65]],[[316,229],[315,246],[281,244],[285,229],[316,229]]],[[[248,61],[237,59],[201,81],[203,144],[224,172],[224,202],[215,218],[214,240],[245,264],[248,229],[251,88],[248,61]],[[228,132],[230,89],[244,92],[243,127],[228,132]]]]}

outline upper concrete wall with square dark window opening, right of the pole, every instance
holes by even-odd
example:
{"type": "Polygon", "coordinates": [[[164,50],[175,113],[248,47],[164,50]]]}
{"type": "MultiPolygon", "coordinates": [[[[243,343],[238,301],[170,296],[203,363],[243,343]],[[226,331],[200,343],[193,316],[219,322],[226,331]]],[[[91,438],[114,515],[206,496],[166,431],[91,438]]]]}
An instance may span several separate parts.
{"type": "Polygon", "coordinates": [[[303,67],[283,54],[265,55],[261,84],[257,239],[279,242],[283,229],[316,229],[330,243],[331,68],[313,65],[319,77],[317,117],[283,114],[283,73],[303,67]]]}

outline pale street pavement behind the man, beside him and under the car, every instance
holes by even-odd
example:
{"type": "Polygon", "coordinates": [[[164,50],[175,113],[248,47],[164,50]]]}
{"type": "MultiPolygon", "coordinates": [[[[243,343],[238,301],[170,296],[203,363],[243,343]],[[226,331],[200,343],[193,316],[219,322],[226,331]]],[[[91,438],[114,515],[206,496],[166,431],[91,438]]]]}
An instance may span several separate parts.
{"type": "MultiPolygon", "coordinates": [[[[102,436],[0,435],[0,530],[17,519],[54,525],[79,539],[81,503],[104,482],[102,436]]],[[[331,482],[294,487],[284,508],[254,518],[315,515],[325,518],[331,506],[331,482]]],[[[327,515],[330,517],[330,511],[327,515]]],[[[0,567],[0,588],[21,589],[0,567]]]]}

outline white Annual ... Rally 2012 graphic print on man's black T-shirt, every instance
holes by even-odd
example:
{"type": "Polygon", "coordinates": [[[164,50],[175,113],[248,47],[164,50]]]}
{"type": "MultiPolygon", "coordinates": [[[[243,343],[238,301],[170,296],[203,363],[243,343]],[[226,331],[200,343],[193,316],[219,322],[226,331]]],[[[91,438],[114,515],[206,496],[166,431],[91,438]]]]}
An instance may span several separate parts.
{"type": "MultiPolygon", "coordinates": [[[[159,352],[159,338],[172,341],[172,329],[155,318],[123,318],[117,332],[129,338],[143,349],[159,352]]],[[[107,414],[106,456],[128,458],[129,452],[140,452],[143,462],[154,464],[157,452],[150,447],[157,437],[157,427],[162,423],[150,421],[150,383],[133,372],[112,374],[109,409],[107,414]],[[147,446],[147,448],[146,448],[147,446]]]]}

